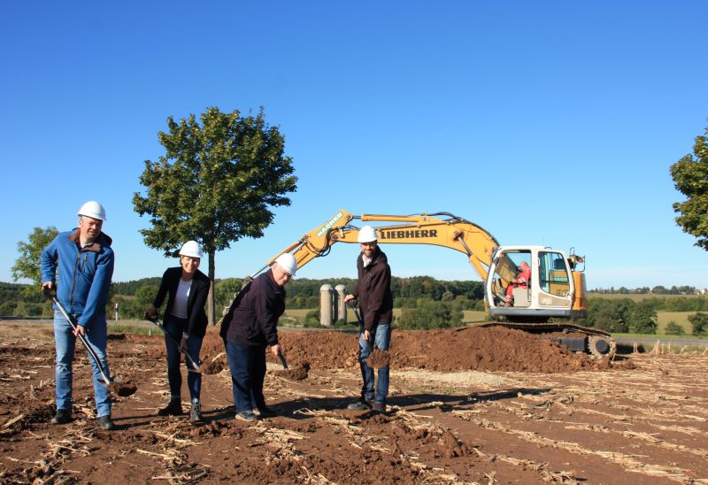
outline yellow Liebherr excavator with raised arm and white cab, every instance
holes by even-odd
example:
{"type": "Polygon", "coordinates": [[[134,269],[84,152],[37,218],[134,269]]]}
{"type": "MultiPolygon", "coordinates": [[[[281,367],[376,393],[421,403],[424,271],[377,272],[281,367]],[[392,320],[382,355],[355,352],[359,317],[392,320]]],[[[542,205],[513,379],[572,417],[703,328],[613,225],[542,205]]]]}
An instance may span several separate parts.
{"type": "Polygon", "coordinates": [[[296,258],[299,268],[313,258],[327,256],[335,242],[357,243],[359,228],[352,224],[355,219],[392,223],[374,227],[380,244],[429,244],[466,254],[485,283],[485,308],[493,318],[503,320],[482,326],[524,330],[595,357],[614,355],[617,345],[612,336],[602,330],[569,322],[549,323],[549,319],[587,316],[583,258],[544,246],[500,246],[488,231],[448,212],[354,216],[338,211],[327,222],[276,254],[264,268],[286,252],[296,258]],[[521,267],[530,268],[530,278],[524,278],[519,284],[521,267]]]}

